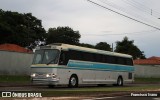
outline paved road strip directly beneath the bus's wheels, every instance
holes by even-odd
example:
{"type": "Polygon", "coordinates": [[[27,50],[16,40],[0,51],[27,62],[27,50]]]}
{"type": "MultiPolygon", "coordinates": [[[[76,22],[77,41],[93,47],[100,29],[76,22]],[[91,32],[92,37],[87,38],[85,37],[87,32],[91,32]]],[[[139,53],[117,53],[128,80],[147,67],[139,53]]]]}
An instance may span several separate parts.
{"type": "MultiPolygon", "coordinates": [[[[141,86],[155,86],[160,84],[126,84],[123,87],[141,87],[141,86]]],[[[115,86],[108,85],[105,86],[104,88],[115,88],[115,86]]],[[[123,88],[122,87],[122,88],[123,88]]],[[[80,86],[78,88],[97,88],[97,85],[94,86],[80,86]]],[[[102,87],[101,87],[102,88],[102,87]]],[[[0,84],[0,91],[6,91],[6,90],[11,90],[11,91],[16,91],[16,90],[27,90],[27,91],[53,91],[53,90],[72,90],[72,89],[77,89],[77,88],[68,88],[67,86],[57,86],[54,88],[49,88],[48,86],[43,86],[43,85],[32,85],[32,84],[0,84]]]]}

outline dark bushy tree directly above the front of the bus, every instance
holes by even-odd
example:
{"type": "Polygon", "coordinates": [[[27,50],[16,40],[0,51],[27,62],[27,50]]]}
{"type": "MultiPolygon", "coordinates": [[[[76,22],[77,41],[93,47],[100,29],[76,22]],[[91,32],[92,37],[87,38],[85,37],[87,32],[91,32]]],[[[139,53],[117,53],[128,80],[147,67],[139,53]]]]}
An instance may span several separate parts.
{"type": "Polygon", "coordinates": [[[46,43],[67,43],[77,45],[81,35],[69,27],[49,28],[46,43]]]}

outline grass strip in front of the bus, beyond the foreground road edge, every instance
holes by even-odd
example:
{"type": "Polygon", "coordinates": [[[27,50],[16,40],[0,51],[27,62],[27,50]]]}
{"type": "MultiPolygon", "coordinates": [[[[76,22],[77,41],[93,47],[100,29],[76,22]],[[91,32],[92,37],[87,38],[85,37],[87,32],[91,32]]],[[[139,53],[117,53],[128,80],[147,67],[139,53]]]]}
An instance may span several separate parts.
{"type": "Polygon", "coordinates": [[[41,91],[43,96],[94,96],[94,95],[108,95],[113,93],[131,93],[131,92],[146,92],[160,89],[158,86],[129,86],[129,87],[85,87],[85,88],[75,88],[75,89],[60,89],[51,91],[41,91]]]}

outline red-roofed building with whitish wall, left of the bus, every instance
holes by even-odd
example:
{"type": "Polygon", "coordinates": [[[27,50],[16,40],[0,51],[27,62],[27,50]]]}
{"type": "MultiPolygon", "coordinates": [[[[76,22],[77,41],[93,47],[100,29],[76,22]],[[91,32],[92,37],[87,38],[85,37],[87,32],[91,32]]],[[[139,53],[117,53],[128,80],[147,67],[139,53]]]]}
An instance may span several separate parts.
{"type": "Polygon", "coordinates": [[[33,52],[15,44],[0,45],[0,75],[29,75],[33,52]]]}

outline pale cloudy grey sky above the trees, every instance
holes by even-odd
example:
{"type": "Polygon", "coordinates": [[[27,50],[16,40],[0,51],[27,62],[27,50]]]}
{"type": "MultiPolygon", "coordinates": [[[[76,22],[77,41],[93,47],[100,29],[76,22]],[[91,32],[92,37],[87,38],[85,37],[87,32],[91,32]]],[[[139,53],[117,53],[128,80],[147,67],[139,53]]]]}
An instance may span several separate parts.
{"type": "Polygon", "coordinates": [[[69,26],[79,31],[81,43],[96,45],[107,42],[115,47],[116,41],[122,41],[127,36],[144,51],[146,57],[160,57],[160,30],[153,28],[160,28],[160,0],[91,1],[103,7],[87,0],[0,0],[0,9],[32,13],[42,20],[46,31],[69,26]]]}

